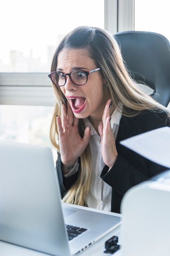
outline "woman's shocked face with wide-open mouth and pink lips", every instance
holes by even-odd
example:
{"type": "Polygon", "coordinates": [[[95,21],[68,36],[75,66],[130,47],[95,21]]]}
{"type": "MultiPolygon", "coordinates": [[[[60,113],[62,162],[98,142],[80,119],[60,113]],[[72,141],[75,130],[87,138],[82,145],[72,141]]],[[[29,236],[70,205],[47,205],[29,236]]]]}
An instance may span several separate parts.
{"type": "MultiPolygon", "coordinates": [[[[76,69],[90,71],[96,68],[98,67],[89,57],[87,49],[62,49],[57,58],[57,71],[64,73],[70,73],[76,69]]],[[[100,70],[89,74],[87,83],[84,85],[75,85],[67,76],[65,85],[60,89],[75,117],[102,119],[104,107],[110,95],[100,70]]]]}

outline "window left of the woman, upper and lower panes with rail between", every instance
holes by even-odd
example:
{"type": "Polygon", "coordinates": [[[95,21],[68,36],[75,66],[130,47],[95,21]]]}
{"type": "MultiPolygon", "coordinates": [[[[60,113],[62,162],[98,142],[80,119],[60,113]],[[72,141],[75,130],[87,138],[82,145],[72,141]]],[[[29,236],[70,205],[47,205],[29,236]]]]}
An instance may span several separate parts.
{"type": "Polygon", "coordinates": [[[0,8],[0,139],[51,147],[53,91],[47,74],[60,40],[81,26],[104,28],[112,0],[5,0],[0,8]]]}

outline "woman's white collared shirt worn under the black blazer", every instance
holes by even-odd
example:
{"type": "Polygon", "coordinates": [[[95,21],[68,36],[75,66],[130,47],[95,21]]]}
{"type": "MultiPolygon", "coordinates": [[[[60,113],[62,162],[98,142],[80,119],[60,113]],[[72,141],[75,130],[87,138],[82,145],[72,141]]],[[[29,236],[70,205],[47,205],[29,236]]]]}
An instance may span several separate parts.
{"type": "MultiPolygon", "coordinates": [[[[111,115],[111,128],[113,130],[113,134],[115,137],[115,141],[117,138],[117,132],[119,129],[119,123],[121,119],[121,113],[117,111],[115,108],[113,114],[111,115]]],[[[84,119],[85,125],[91,126],[91,137],[89,141],[91,154],[92,154],[92,172],[91,172],[91,182],[90,182],[90,190],[86,198],[86,203],[88,207],[111,211],[111,197],[112,197],[112,187],[109,186],[106,182],[102,180],[100,177],[104,166],[106,165],[102,159],[102,155],[100,152],[100,136],[97,131],[88,120],[88,118],[84,119]]],[[[70,176],[75,173],[78,169],[78,163],[75,164],[73,169],[65,175],[65,177],[70,176]]]]}

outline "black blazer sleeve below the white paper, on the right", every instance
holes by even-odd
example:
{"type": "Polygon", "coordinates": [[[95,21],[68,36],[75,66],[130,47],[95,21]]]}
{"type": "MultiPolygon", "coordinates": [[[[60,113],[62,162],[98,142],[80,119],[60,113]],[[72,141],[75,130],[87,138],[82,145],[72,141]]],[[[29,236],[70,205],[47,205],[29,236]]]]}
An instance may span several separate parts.
{"type": "Polygon", "coordinates": [[[104,167],[101,173],[101,178],[121,195],[124,195],[132,186],[144,182],[150,177],[167,170],[167,168],[155,164],[139,155],[136,156],[136,160],[137,159],[140,167],[137,166],[136,161],[133,164],[132,160],[130,161],[123,156],[118,155],[114,166],[109,172],[109,167],[104,167]],[[141,168],[143,168],[143,170],[141,168]]]}

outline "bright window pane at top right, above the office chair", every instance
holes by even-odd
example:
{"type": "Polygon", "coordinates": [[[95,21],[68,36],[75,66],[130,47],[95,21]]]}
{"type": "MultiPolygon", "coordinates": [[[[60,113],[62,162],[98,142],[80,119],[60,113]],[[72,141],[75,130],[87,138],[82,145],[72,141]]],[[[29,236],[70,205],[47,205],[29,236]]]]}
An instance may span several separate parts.
{"type": "Polygon", "coordinates": [[[170,40],[169,0],[135,0],[135,30],[162,34],[170,40]]]}

